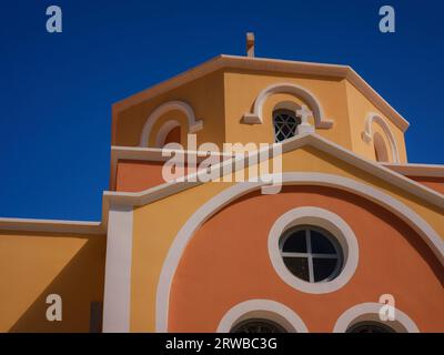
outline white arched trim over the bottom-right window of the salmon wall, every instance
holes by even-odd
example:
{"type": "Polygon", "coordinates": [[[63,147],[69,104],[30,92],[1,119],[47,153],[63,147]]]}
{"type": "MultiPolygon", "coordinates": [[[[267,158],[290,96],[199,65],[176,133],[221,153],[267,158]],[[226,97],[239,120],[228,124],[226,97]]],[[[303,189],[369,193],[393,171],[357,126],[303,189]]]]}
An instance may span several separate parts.
{"type": "Polygon", "coordinates": [[[345,311],[336,321],[333,333],[345,333],[347,328],[360,322],[379,322],[393,328],[397,333],[420,333],[416,324],[404,312],[395,308],[394,321],[381,321],[382,303],[361,303],[345,311]]]}

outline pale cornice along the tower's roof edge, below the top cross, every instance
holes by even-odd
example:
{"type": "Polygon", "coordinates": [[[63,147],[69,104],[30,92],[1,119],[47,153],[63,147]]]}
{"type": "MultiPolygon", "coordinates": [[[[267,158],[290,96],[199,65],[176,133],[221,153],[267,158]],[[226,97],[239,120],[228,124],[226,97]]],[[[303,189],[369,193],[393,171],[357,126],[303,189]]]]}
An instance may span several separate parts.
{"type": "Polygon", "coordinates": [[[113,120],[117,119],[117,113],[122,110],[223,68],[346,79],[403,132],[405,132],[410,125],[410,123],[351,67],[225,54],[215,57],[176,77],[114,103],[113,120]]]}

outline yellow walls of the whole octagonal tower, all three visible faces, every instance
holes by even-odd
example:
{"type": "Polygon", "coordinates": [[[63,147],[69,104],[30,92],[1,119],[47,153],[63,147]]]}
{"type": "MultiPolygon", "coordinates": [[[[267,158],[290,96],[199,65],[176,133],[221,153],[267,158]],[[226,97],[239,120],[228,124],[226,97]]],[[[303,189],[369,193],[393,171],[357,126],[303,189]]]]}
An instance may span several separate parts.
{"type": "MultiPolygon", "coordinates": [[[[273,94],[264,103],[262,124],[245,124],[242,118],[252,112],[259,93],[269,85],[294,83],[311,91],[321,102],[326,119],[334,120],[332,129],[316,129],[316,133],[362,155],[374,160],[373,142],[362,139],[365,119],[370,112],[379,113],[394,134],[401,162],[406,162],[404,133],[389,118],[383,115],[353,84],[345,79],[315,75],[276,74],[272,72],[254,72],[249,70],[222,69],[195,79],[164,94],[134,104],[118,115],[117,145],[133,146],[139,144],[140,134],[148,116],[160,104],[180,100],[189,103],[198,119],[204,122],[203,130],[198,132],[198,145],[212,142],[222,146],[231,143],[270,143],[274,142],[272,113],[276,104],[291,101],[299,105],[306,104],[291,94],[273,94]]],[[[131,98],[128,102],[131,102],[131,98]]],[[[309,105],[310,106],[310,105],[309,105]]],[[[179,111],[162,115],[154,124],[150,136],[150,146],[154,146],[155,136],[162,124],[169,119],[181,123],[182,141],[186,142],[188,122],[179,111]]],[[[314,123],[313,120],[311,122],[314,123]]],[[[377,124],[373,130],[381,131],[377,124]]],[[[382,132],[385,138],[385,133],[382,132]]],[[[387,150],[389,141],[385,139],[387,150]]],[[[185,144],[183,144],[185,145],[185,144]]]]}

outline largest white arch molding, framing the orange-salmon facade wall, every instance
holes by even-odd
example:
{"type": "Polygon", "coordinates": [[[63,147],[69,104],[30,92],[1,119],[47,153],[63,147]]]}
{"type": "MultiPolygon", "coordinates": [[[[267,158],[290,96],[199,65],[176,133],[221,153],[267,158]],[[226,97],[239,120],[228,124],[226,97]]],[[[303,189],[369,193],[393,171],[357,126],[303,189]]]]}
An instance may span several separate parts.
{"type": "MultiPolygon", "coordinates": [[[[280,178],[274,176],[274,179],[280,178]]],[[[262,179],[262,181],[270,180],[262,179]]],[[[417,213],[391,195],[355,180],[324,173],[283,173],[282,183],[284,185],[319,185],[336,187],[373,201],[407,223],[424,240],[432,252],[436,255],[440,263],[444,265],[444,241],[417,213]]],[[[258,190],[264,184],[261,182],[244,182],[228,187],[198,209],[179,231],[168,252],[159,277],[155,301],[157,332],[168,332],[171,285],[180,258],[194,233],[203,223],[205,223],[205,221],[232,201],[248,194],[249,192],[258,190]]]]}

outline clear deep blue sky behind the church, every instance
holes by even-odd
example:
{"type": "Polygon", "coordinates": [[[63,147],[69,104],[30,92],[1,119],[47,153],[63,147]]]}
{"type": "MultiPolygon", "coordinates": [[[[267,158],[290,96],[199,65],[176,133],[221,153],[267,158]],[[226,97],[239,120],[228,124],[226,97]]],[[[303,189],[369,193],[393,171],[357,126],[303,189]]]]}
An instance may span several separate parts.
{"type": "Polygon", "coordinates": [[[0,216],[101,219],[111,104],[220,53],[352,65],[410,122],[410,162],[444,163],[442,1],[1,1],[0,216]],[[46,31],[46,9],[63,33],[46,31]],[[396,33],[379,32],[379,9],[396,33]]]}

